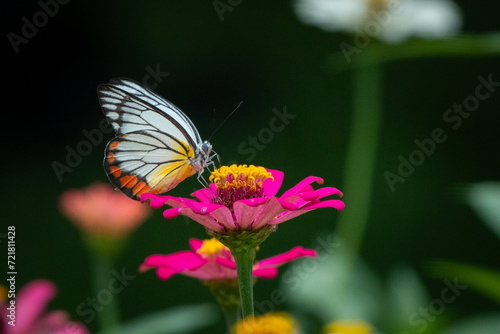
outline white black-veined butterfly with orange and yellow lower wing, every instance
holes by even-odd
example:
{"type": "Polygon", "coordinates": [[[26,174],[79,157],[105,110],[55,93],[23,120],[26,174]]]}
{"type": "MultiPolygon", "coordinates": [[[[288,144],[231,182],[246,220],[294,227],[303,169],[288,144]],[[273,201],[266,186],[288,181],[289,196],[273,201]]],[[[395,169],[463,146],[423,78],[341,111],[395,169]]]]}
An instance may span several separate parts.
{"type": "Polygon", "coordinates": [[[218,157],[179,108],[144,85],[115,78],[99,85],[97,94],[116,132],[105,149],[104,170],[128,197],[165,193],[196,172],[203,179],[204,168],[218,157]]]}

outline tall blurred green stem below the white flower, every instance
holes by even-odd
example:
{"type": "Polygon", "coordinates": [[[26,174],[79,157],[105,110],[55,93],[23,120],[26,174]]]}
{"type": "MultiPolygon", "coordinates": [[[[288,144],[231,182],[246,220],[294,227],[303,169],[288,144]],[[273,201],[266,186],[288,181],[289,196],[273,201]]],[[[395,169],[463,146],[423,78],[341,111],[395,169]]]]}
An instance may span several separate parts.
{"type": "Polygon", "coordinates": [[[337,233],[356,256],[371,207],[382,109],[381,69],[376,65],[355,69],[352,85],[354,105],[342,186],[348,208],[340,215],[337,233]]]}

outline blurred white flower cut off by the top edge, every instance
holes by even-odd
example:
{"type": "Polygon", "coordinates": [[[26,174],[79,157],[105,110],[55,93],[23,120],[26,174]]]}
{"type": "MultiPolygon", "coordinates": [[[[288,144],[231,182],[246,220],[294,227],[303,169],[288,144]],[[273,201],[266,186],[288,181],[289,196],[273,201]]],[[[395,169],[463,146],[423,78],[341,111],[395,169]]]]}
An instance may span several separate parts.
{"type": "Polygon", "coordinates": [[[326,31],[364,33],[389,43],[443,38],[462,25],[451,0],[296,0],[298,17],[326,31]]]}

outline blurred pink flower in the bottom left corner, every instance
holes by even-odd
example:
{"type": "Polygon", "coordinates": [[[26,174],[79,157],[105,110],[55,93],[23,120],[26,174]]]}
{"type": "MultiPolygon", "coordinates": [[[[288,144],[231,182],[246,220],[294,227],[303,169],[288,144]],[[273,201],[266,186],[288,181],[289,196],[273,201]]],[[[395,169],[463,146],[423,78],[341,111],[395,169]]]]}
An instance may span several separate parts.
{"type": "Polygon", "coordinates": [[[12,321],[11,304],[1,304],[1,333],[5,334],[88,334],[89,331],[79,322],[69,321],[64,311],[45,313],[47,304],[56,295],[56,287],[46,280],[35,280],[26,284],[15,299],[15,326],[12,321]]]}

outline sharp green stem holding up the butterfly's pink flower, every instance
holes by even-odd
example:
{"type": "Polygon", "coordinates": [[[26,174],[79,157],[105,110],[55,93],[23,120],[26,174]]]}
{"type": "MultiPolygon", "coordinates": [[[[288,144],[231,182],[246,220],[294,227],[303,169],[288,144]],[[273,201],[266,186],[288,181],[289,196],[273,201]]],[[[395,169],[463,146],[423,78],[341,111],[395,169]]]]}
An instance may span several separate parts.
{"type": "Polygon", "coordinates": [[[238,286],[243,318],[254,315],[253,261],[255,252],[255,248],[242,248],[237,251],[231,250],[234,261],[236,262],[236,272],[238,273],[238,286]]]}

